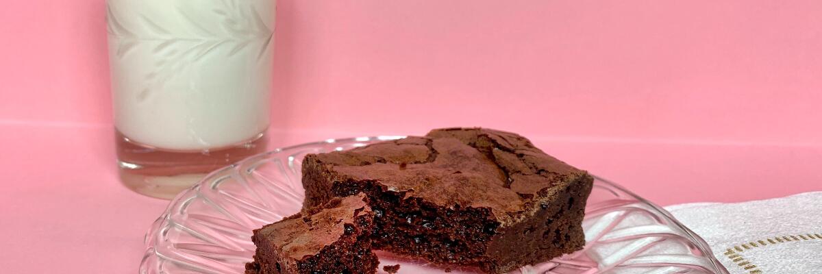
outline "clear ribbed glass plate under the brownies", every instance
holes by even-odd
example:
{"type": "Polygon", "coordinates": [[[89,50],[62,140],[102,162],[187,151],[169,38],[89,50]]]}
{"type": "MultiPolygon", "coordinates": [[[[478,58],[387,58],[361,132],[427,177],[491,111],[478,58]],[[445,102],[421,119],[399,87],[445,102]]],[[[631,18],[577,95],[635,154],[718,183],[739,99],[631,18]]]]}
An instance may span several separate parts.
{"type": "MultiPolygon", "coordinates": [[[[141,274],[238,274],[252,260],[252,230],[302,207],[302,157],[401,137],[326,140],[277,149],[217,170],[180,193],[145,235],[141,274]]],[[[707,244],[661,207],[597,178],[585,209],[584,250],[513,273],[716,273],[727,270],[707,244]]],[[[377,253],[399,273],[444,270],[377,253]]],[[[380,267],[380,273],[382,269],[380,267]]],[[[451,273],[473,273],[452,269],[451,273]]]]}

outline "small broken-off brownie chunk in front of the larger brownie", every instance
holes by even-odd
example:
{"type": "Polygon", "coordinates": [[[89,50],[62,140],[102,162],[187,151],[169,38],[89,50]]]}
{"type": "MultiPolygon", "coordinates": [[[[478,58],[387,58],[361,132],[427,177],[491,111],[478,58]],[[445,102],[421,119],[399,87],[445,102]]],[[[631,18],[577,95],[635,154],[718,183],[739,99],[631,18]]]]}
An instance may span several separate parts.
{"type": "Polygon", "coordinates": [[[325,204],[254,230],[246,274],[376,273],[369,235],[374,212],[363,194],[325,204]]]}

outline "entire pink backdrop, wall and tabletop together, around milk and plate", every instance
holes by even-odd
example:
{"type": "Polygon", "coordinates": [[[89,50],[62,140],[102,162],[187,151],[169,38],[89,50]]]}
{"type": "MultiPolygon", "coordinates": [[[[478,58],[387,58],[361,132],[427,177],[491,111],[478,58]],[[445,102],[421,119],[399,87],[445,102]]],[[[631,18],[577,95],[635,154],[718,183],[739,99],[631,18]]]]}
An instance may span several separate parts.
{"type": "MultiPolygon", "coordinates": [[[[104,0],[0,9],[3,272],[136,272],[104,0]]],[[[663,205],[822,190],[822,2],[280,0],[271,138],[520,132],[663,205]]]]}

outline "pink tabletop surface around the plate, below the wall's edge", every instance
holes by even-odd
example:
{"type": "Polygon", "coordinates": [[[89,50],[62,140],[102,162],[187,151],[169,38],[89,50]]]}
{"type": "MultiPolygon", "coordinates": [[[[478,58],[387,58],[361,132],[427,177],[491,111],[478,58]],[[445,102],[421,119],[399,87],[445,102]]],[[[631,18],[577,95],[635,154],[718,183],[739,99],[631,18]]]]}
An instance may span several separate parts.
{"type": "MultiPolygon", "coordinates": [[[[143,235],[168,202],[132,193],[118,182],[111,127],[2,125],[0,132],[6,182],[0,192],[2,272],[136,272],[143,235]]],[[[271,134],[274,146],[328,137],[350,136],[271,134]]],[[[661,205],[740,202],[822,190],[820,147],[533,141],[661,205]]]]}

